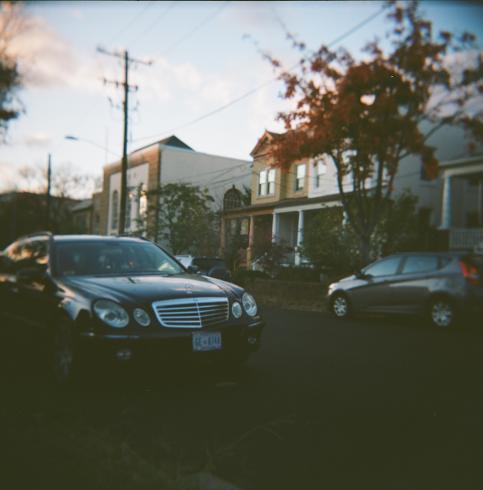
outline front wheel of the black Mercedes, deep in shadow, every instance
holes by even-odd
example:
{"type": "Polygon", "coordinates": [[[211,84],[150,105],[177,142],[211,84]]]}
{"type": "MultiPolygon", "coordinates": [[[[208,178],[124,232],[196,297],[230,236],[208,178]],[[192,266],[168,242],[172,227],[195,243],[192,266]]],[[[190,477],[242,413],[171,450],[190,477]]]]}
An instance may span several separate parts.
{"type": "Polygon", "coordinates": [[[52,342],[51,372],[58,385],[68,384],[74,373],[74,334],[67,321],[61,321],[55,328],[52,342]]]}

